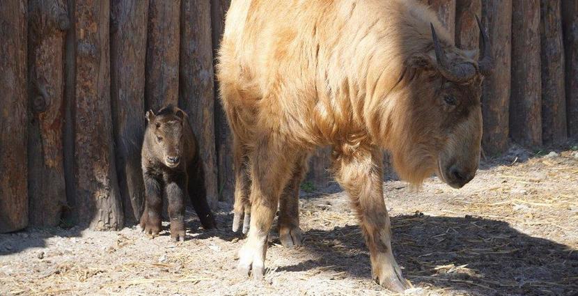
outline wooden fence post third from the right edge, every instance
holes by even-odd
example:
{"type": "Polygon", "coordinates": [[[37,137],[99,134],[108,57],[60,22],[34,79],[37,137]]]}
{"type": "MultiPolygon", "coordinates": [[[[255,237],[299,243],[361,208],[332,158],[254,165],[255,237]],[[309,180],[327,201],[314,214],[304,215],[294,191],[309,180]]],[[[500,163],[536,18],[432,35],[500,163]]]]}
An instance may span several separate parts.
{"type": "Polygon", "coordinates": [[[542,144],[540,0],[514,0],[512,6],[510,137],[525,146],[539,146],[542,144]]]}

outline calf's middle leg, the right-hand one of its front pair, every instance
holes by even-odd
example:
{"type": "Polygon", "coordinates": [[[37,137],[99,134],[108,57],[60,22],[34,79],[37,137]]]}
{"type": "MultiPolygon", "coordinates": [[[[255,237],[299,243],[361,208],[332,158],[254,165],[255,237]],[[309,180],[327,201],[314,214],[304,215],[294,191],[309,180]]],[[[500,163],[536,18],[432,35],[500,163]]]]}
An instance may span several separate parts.
{"type": "Polygon", "coordinates": [[[164,192],[169,201],[169,218],[171,219],[171,239],[185,241],[185,186],[187,175],[175,173],[166,178],[164,192]]]}

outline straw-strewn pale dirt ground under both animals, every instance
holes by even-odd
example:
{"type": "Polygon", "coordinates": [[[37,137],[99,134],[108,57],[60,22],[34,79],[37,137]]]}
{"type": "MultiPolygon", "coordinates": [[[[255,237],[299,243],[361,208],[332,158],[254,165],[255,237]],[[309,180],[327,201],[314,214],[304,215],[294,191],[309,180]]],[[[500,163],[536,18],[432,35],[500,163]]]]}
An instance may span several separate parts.
{"type": "MultiPolygon", "coordinates": [[[[406,294],[578,295],[578,152],[548,153],[513,148],[460,190],[437,178],[419,191],[386,182],[406,294]]],[[[304,246],[283,248],[273,231],[264,281],[235,273],[244,238],[221,203],[218,231],[189,213],[180,243],[136,226],[0,235],[0,295],[387,295],[338,186],[300,203],[304,246]]]]}

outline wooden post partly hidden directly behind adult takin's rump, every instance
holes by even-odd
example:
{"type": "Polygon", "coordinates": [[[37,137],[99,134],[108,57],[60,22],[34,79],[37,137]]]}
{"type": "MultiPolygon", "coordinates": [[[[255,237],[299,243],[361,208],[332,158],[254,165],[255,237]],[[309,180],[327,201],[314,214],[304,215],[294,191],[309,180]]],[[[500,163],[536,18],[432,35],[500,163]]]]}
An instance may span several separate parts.
{"type": "MultiPolygon", "coordinates": [[[[230,0],[211,0],[212,45],[213,56],[217,56],[224,31],[224,17],[231,5],[230,0]]],[[[215,91],[218,93],[219,83],[215,79],[215,91]]],[[[218,101],[218,95],[215,96],[218,101]]],[[[217,169],[219,180],[219,200],[232,201],[234,189],[233,177],[233,140],[225,112],[220,102],[214,104],[215,149],[217,150],[217,169]]]]}

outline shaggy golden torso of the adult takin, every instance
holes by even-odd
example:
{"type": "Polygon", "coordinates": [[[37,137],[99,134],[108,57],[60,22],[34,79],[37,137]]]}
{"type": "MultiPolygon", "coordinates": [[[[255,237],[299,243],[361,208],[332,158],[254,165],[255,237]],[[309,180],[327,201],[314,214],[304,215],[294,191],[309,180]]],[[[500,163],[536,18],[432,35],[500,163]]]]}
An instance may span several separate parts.
{"type": "Polygon", "coordinates": [[[233,0],[217,68],[231,126],[304,145],[363,132],[407,57],[432,45],[430,22],[442,28],[412,0],[233,0]]]}

